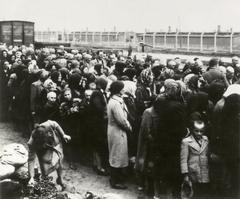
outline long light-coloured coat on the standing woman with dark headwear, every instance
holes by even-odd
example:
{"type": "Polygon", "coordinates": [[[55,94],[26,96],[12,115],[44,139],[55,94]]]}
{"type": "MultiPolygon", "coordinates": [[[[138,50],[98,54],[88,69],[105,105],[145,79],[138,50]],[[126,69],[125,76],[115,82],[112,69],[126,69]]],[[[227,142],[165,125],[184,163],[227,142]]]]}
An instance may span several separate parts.
{"type": "Polygon", "coordinates": [[[113,95],[108,103],[108,149],[111,167],[128,166],[128,144],[126,131],[131,130],[127,120],[127,107],[122,98],[113,95]]]}

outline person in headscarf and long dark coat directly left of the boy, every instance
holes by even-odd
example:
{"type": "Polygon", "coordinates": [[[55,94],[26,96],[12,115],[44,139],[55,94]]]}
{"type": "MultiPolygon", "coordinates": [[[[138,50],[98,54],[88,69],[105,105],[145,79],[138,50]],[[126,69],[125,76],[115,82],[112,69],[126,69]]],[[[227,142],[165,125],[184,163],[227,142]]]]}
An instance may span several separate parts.
{"type": "Polygon", "coordinates": [[[181,102],[182,91],[178,83],[166,87],[164,96],[158,97],[154,108],[158,116],[158,127],[152,143],[151,158],[154,166],[155,197],[159,198],[159,184],[162,181],[168,194],[180,193],[180,145],[187,134],[185,107],[181,102]]]}

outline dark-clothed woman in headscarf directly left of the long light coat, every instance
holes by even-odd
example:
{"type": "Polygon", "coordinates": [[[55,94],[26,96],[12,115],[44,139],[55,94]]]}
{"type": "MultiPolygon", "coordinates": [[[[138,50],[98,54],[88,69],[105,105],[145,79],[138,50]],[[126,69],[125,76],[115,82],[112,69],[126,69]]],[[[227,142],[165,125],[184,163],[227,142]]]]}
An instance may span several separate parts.
{"type": "Polygon", "coordinates": [[[107,175],[103,168],[103,157],[107,154],[107,88],[108,80],[99,77],[96,89],[90,98],[90,114],[92,118],[91,142],[93,146],[94,169],[99,175],[107,175]]]}

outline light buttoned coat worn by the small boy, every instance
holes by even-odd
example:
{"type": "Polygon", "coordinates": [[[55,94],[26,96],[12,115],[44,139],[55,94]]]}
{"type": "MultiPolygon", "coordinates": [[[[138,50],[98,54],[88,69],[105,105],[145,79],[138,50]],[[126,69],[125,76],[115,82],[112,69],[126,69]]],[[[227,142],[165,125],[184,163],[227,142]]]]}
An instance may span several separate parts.
{"type": "Polygon", "coordinates": [[[193,183],[208,183],[208,145],[209,141],[203,136],[201,146],[191,135],[182,140],[181,144],[181,172],[188,173],[193,183]]]}

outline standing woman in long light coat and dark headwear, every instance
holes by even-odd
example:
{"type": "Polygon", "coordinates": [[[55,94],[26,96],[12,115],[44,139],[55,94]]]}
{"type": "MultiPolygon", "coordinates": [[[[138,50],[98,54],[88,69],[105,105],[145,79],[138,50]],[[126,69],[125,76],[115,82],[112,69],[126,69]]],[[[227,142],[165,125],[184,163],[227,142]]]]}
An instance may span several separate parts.
{"type": "Polygon", "coordinates": [[[132,127],[127,120],[127,107],[122,99],[124,83],[115,81],[110,86],[111,98],[108,103],[108,149],[111,166],[110,185],[115,189],[126,189],[119,183],[117,174],[128,166],[127,132],[132,127]]]}

